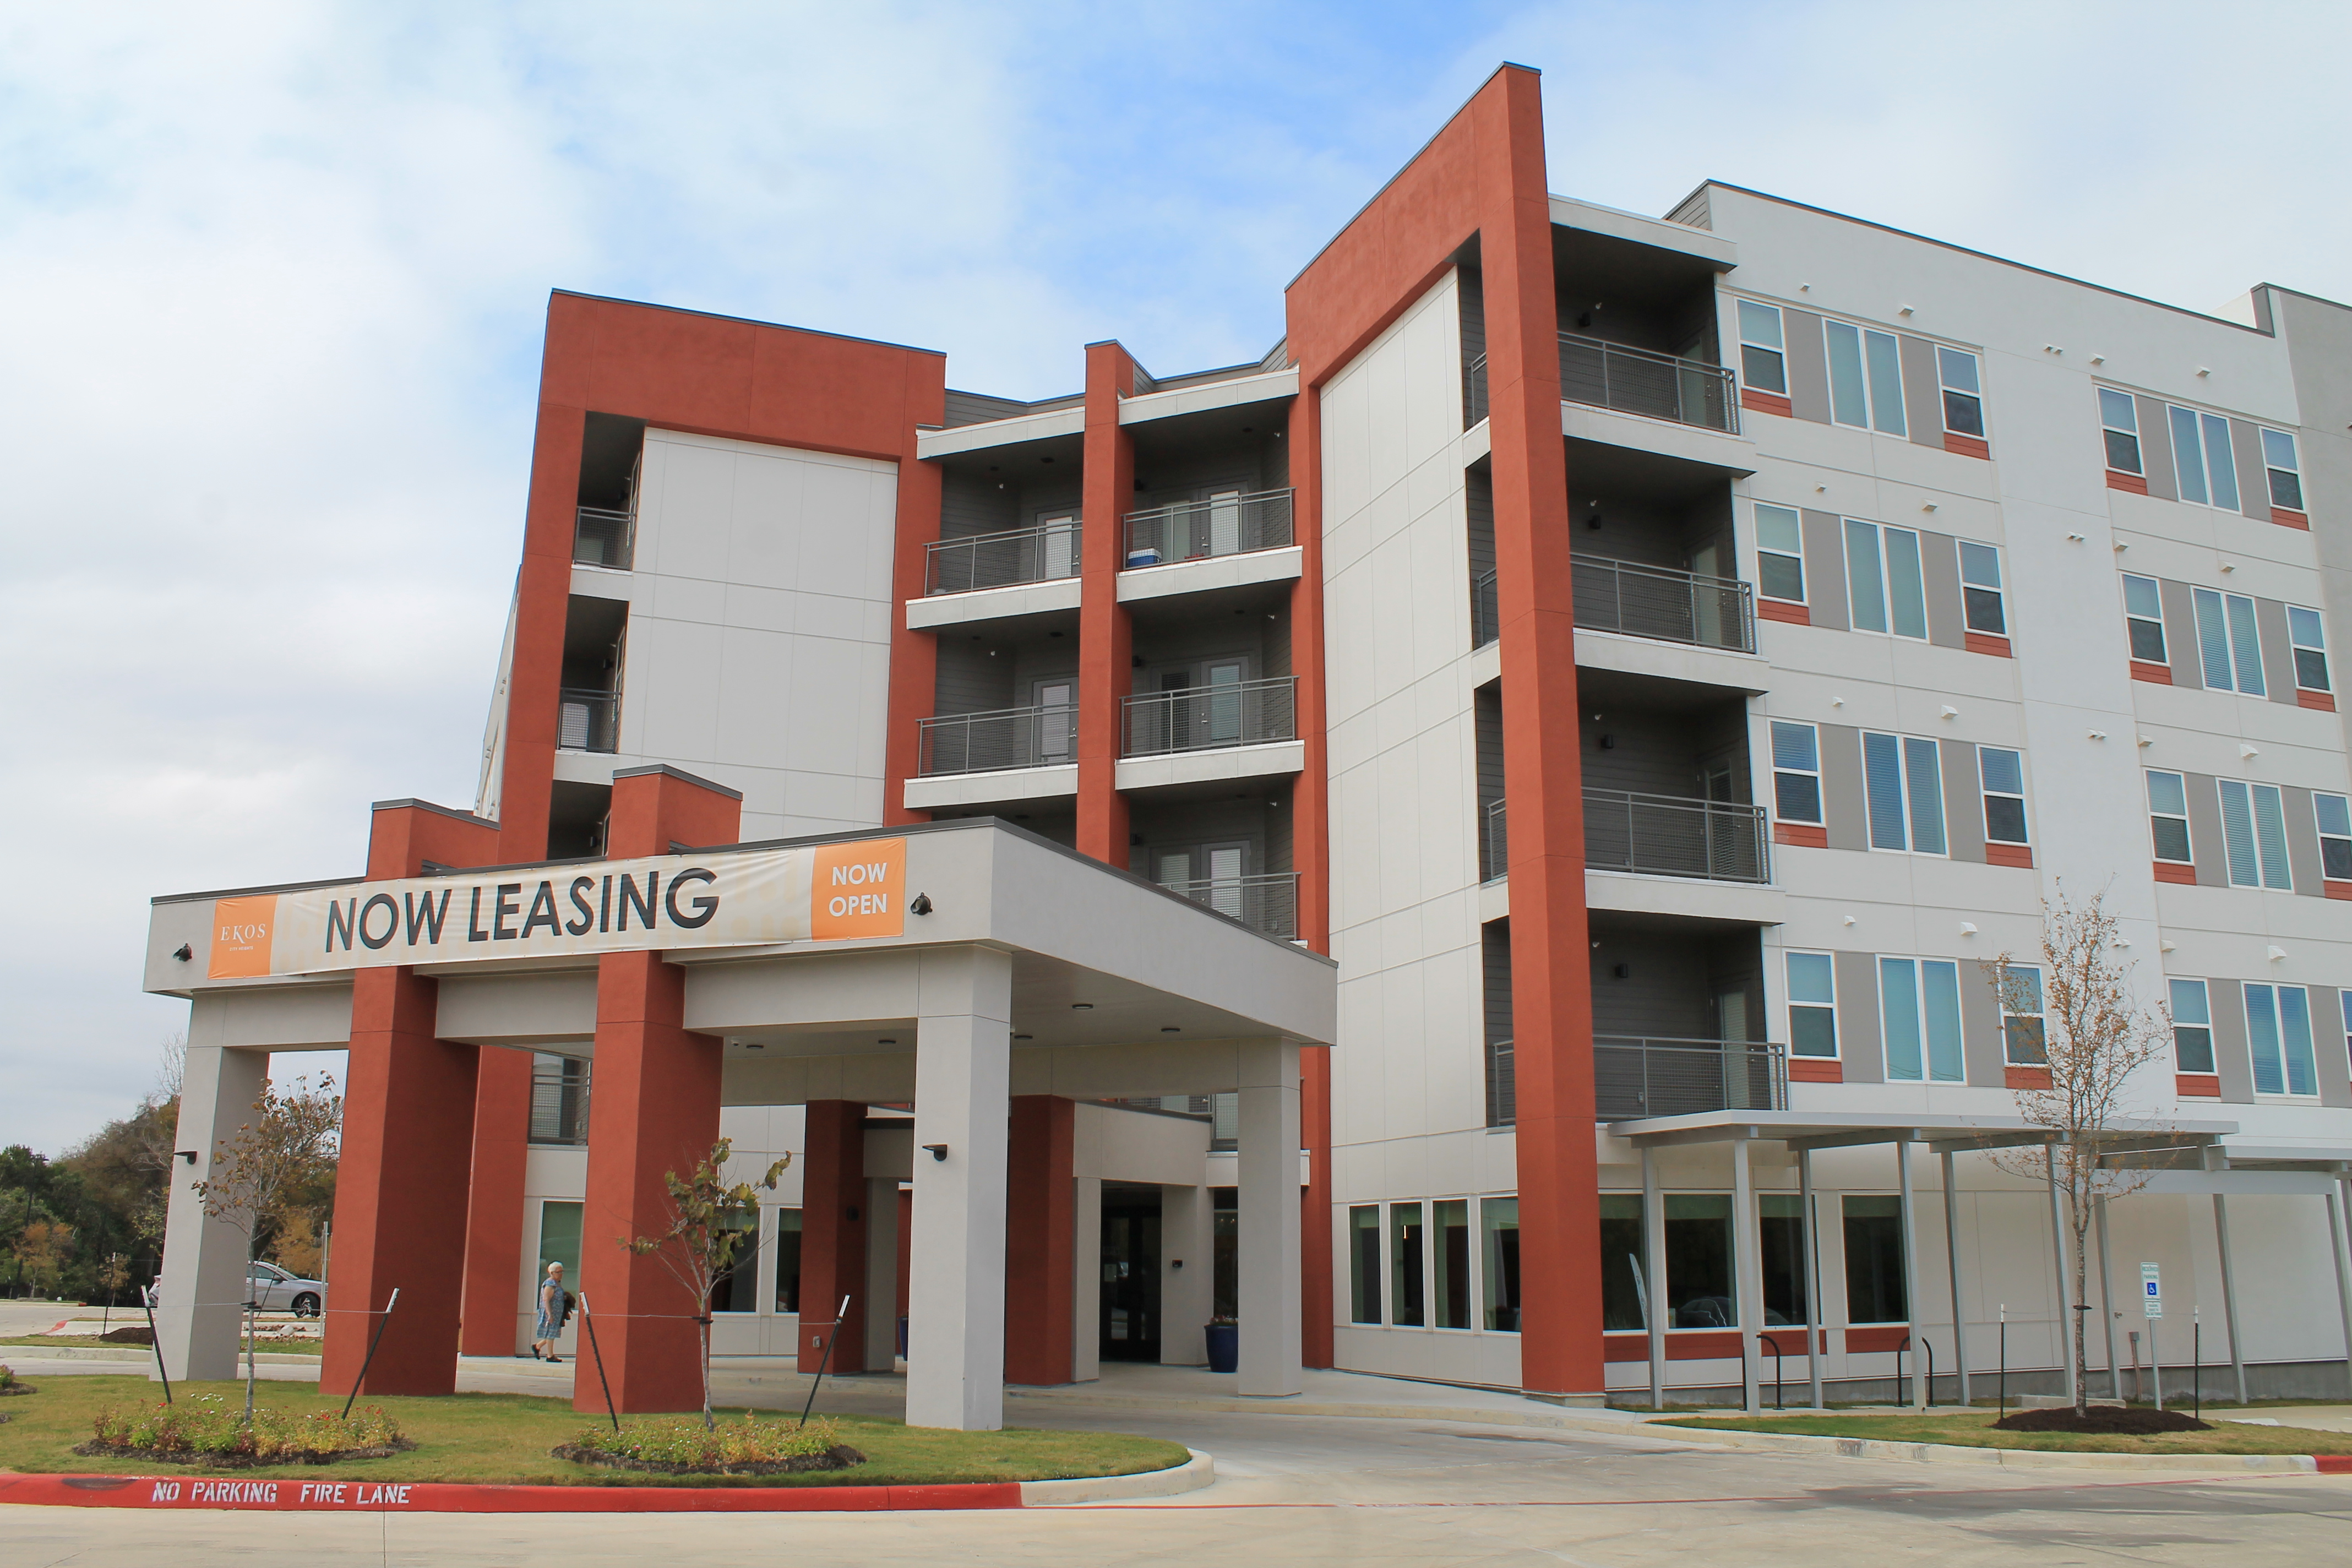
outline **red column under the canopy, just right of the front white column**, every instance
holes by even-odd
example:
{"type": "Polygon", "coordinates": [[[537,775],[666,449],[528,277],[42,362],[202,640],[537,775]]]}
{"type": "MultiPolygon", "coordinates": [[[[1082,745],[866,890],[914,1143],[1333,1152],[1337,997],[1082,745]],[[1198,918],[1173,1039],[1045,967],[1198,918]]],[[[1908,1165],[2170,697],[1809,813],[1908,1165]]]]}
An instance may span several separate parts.
{"type": "Polygon", "coordinates": [[[1014,1095],[1004,1168],[1004,1382],[1070,1382],[1077,1105],[1014,1095]]]}

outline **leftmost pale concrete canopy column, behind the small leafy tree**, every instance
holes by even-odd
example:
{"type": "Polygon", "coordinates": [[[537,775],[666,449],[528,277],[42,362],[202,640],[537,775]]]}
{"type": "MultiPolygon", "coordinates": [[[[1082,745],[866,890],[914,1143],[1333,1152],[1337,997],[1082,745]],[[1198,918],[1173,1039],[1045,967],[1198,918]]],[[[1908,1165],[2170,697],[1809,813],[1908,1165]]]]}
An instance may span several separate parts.
{"type": "Polygon", "coordinates": [[[205,1218],[195,1182],[212,1180],[214,1152],[254,1119],[254,1100],[268,1077],[268,1051],[188,1046],[172,1140],[176,1154],[165,1171],[172,1197],[162,1232],[162,1302],[155,1307],[155,1342],[174,1382],[238,1375],[247,1241],[235,1225],[205,1218]],[[195,1161],[183,1154],[195,1154],[195,1161]]]}

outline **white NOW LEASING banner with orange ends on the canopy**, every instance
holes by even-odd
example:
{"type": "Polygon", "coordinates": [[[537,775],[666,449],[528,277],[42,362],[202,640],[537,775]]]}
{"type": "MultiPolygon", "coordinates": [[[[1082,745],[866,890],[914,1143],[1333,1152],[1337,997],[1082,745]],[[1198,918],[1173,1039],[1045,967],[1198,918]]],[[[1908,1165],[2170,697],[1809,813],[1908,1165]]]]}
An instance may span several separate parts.
{"type": "Polygon", "coordinates": [[[216,898],[214,980],[906,933],[906,839],[216,898]]]}

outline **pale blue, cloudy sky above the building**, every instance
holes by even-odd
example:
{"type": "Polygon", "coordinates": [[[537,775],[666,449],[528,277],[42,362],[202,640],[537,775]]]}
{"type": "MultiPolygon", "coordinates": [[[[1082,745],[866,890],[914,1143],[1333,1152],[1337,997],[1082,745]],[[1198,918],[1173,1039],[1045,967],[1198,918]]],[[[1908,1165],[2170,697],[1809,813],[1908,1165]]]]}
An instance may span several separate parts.
{"type": "Polygon", "coordinates": [[[2352,301],[2347,56],[2343,5],[0,0],[0,1145],[153,1086],[151,896],[473,804],[550,289],[1011,397],[1254,360],[1517,61],[1566,195],[2352,301]]]}

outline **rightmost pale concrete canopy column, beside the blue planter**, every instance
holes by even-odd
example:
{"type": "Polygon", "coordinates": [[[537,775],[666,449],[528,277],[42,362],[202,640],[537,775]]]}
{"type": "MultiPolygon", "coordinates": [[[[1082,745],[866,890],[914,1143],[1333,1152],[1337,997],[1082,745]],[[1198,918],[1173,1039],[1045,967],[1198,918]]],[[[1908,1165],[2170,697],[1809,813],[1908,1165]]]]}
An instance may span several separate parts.
{"type": "Polygon", "coordinates": [[[1298,1319],[1298,1046],[1279,1039],[1242,1046],[1240,1112],[1240,1392],[1296,1394],[1305,1387],[1298,1319]]]}

